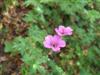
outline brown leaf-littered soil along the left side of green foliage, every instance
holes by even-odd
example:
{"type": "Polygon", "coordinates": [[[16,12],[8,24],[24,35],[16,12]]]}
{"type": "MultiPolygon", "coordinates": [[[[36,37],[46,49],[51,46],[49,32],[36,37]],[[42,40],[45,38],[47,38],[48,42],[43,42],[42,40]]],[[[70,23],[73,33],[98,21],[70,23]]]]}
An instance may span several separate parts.
{"type": "Polygon", "coordinates": [[[16,36],[27,36],[28,25],[22,18],[29,9],[22,6],[23,0],[18,1],[19,6],[9,7],[5,14],[2,10],[3,0],[0,0],[0,29],[8,29],[8,32],[0,31],[0,75],[21,75],[23,62],[20,54],[12,55],[4,52],[5,41],[11,41],[16,36]]]}

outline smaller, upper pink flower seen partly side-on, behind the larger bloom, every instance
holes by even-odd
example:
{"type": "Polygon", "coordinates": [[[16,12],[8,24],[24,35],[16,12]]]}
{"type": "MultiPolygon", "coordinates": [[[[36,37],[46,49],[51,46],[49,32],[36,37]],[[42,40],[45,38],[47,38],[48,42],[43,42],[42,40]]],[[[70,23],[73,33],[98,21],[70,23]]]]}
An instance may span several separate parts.
{"type": "Polygon", "coordinates": [[[73,33],[73,29],[69,26],[59,26],[58,28],[55,28],[55,31],[59,36],[72,35],[73,33]]]}

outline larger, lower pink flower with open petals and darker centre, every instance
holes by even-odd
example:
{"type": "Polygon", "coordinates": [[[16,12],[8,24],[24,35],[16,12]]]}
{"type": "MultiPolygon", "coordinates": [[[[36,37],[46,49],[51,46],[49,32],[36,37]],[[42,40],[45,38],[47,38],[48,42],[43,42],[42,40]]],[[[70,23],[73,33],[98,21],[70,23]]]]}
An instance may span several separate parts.
{"type": "Polygon", "coordinates": [[[51,48],[54,52],[60,52],[60,48],[66,46],[66,42],[62,40],[58,35],[46,36],[43,44],[44,47],[51,48]]]}

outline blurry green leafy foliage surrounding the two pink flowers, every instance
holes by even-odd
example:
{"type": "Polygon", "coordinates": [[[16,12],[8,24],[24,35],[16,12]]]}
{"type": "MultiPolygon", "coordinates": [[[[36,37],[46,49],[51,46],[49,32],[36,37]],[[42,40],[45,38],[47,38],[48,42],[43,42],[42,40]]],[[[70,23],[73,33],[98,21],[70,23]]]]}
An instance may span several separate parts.
{"type": "MultiPolygon", "coordinates": [[[[15,0],[14,6],[19,5],[15,0]]],[[[21,55],[22,75],[100,75],[100,0],[24,0],[21,5],[29,9],[21,18],[26,33],[21,35],[19,27],[4,43],[5,52],[21,55]],[[64,38],[66,48],[54,53],[44,48],[43,40],[59,25],[74,32],[64,38]]]]}

